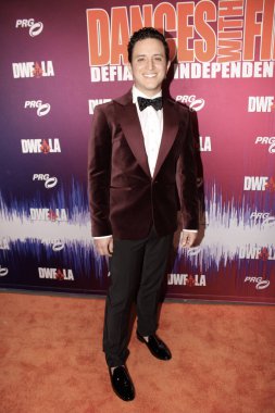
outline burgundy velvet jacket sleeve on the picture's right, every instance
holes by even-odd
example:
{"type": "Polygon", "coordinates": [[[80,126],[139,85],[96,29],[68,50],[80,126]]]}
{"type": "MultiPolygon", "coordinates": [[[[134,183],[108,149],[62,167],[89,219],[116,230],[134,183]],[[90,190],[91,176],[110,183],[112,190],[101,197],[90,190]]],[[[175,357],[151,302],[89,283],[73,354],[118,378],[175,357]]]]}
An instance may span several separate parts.
{"type": "Polygon", "coordinates": [[[188,126],[177,164],[178,192],[184,229],[199,229],[199,197],[192,117],[188,109],[188,126]]]}

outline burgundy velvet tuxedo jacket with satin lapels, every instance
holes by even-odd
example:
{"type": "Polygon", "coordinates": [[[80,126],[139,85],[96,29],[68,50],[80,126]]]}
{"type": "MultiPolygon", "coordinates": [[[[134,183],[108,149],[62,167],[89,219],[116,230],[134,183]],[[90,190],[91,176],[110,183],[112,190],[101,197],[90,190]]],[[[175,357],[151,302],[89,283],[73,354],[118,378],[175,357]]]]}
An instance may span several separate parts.
{"type": "Polygon", "coordinates": [[[198,228],[195,142],[190,112],[163,100],[163,135],[151,177],[132,90],[96,108],[88,155],[92,236],[142,239],[198,228]]]}

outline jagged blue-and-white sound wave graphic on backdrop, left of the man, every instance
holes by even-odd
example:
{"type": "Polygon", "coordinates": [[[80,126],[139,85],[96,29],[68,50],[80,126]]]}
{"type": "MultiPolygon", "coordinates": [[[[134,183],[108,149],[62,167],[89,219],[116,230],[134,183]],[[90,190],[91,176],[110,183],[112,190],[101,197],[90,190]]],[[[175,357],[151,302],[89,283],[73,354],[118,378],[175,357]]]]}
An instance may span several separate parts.
{"type": "Polygon", "coordinates": [[[40,193],[21,202],[15,198],[7,202],[0,193],[0,252],[8,263],[28,258],[48,262],[49,267],[73,267],[78,277],[96,278],[102,284],[108,262],[93,248],[88,196],[82,185],[73,182],[67,191],[61,187],[47,202],[40,193]],[[30,209],[63,210],[67,220],[32,220],[30,209]]]}

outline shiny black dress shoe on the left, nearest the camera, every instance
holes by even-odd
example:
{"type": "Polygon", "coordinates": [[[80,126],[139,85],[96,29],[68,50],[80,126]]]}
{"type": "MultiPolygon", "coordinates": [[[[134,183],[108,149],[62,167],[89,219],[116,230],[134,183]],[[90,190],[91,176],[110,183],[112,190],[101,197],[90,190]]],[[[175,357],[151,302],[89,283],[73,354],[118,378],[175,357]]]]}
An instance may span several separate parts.
{"type": "Polygon", "coordinates": [[[134,400],[135,388],[127,368],[124,365],[120,365],[112,373],[111,367],[109,367],[109,373],[115,395],[124,401],[134,400]]]}

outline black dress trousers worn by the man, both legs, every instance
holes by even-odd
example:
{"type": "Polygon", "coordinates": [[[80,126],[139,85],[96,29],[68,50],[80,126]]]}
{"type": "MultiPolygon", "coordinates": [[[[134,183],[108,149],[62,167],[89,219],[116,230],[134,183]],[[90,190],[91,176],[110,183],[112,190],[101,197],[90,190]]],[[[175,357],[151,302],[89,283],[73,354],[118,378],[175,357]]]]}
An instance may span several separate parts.
{"type": "Polygon", "coordinates": [[[173,234],[159,237],[152,228],[140,240],[114,239],[104,315],[103,351],[110,367],[128,356],[129,316],[137,303],[137,329],[142,336],[158,328],[158,304],[173,234]]]}

